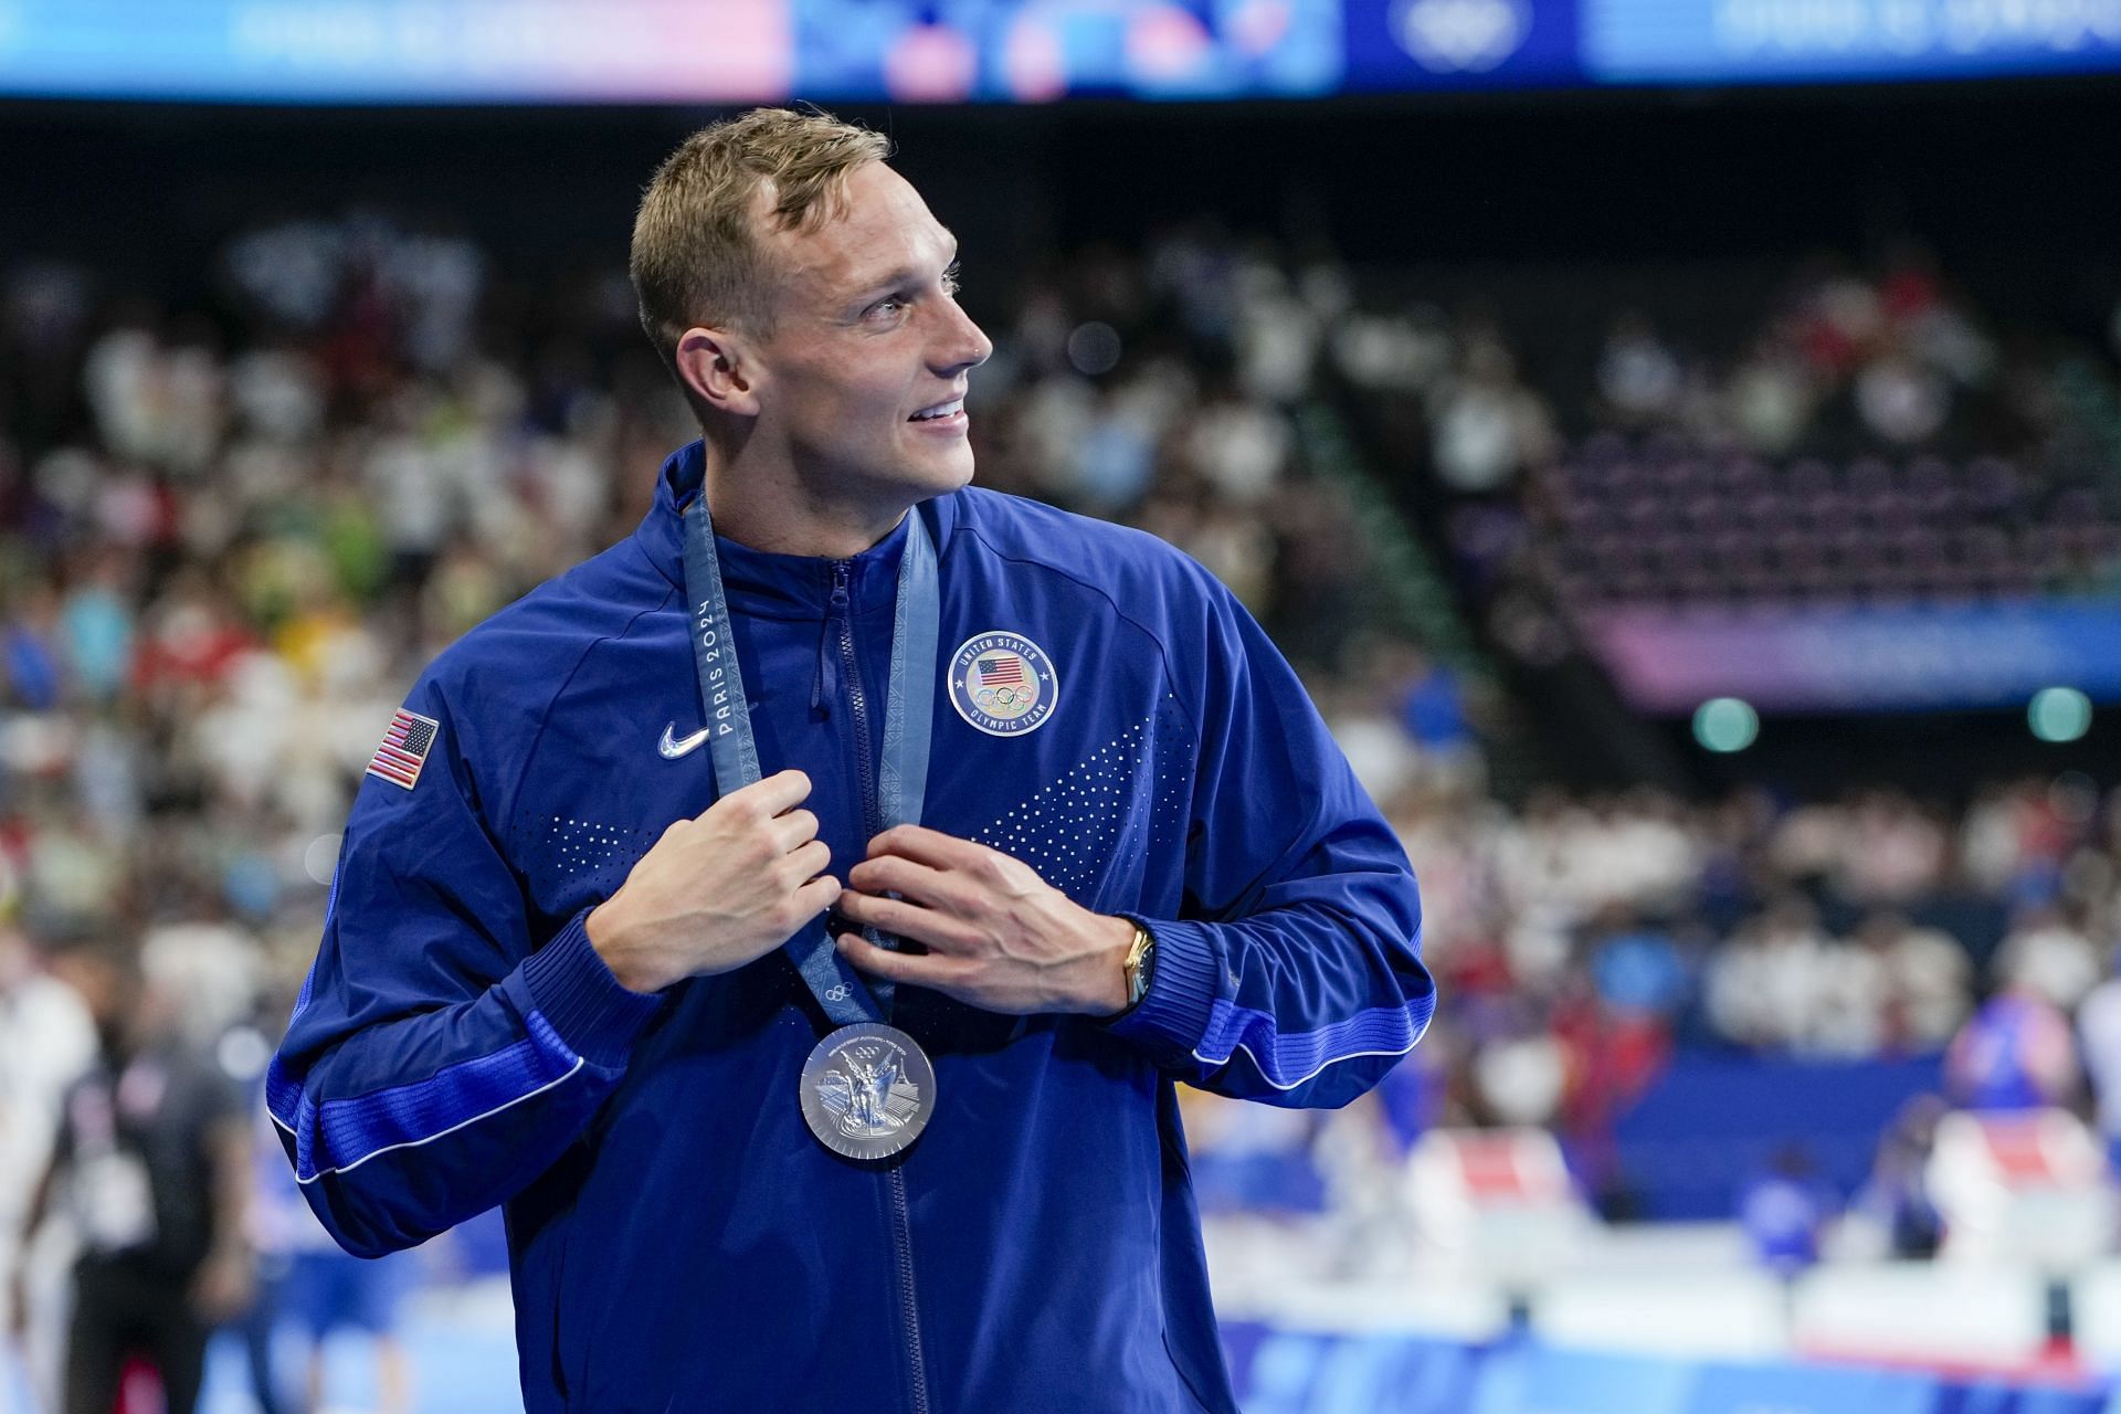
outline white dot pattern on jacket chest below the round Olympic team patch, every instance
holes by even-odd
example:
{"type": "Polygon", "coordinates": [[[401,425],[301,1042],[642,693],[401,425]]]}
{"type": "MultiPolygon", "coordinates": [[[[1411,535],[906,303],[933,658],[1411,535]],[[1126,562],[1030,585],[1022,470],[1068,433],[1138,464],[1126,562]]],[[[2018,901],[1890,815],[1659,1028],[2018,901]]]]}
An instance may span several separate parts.
{"type": "MultiPolygon", "coordinates": [[[[1152,733],[1145,721],[1126,727],[1071,772],[980,827],[974,839],[1071,890],[1094,880],[1114,854],[1175,837],[1184,831],[1192,753],[1173,750],[1173,717],[1164,717],[1164,731],[1152,733]]],[[[1190,742],[1190,729],[1179,731],[1190,742]]]]}

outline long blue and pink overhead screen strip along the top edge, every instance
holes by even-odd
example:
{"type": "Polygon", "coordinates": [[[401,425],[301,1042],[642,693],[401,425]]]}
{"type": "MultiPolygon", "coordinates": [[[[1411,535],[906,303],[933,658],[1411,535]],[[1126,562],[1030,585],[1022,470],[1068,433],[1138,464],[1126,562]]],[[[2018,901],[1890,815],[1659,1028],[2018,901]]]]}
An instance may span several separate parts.
{"type": "Polygon", "coordinates": [[[2121,72],[2121,0],[0,0],[0,98],[1052,102],[2121,72]]]}

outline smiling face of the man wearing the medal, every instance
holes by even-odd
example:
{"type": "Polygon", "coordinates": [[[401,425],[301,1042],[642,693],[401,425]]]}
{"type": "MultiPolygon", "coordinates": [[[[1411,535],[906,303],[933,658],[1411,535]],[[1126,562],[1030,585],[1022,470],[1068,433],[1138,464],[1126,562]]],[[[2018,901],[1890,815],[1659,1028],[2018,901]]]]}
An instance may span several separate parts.
{"type": "Polygon", "coordinates": [[[778,288],[774,333],[753,346],[761,449],[834,500],[904,509],[971,481],[965,382],[995,346],[957,307],[957,237],[921,193],[867,163],[844,210],[764,244],[778,288]]]}

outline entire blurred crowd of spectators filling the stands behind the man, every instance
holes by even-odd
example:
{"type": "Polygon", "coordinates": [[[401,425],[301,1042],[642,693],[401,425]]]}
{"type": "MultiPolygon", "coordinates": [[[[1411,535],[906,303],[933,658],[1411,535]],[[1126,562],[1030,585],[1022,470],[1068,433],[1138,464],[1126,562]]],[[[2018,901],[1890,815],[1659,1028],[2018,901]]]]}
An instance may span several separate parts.
{"type": "MultiPolygon", "coordinates": [[[[199,1153],[255,1109],[401,693],[469,625],[630,532],[694,432],[624,271],[526,278],[380,214],[246,231],[176,303],[64,263],[0,280],[15,1266],[55,1141],[78,1157],[83,1075],[123,1092],[144,1054],[218,1075],[182,1111],[199,1153]],[[112,952],[151,1007],[95,1015],[76,996],[83,960],[112,952]]],[[[1377,591],[1391,530],[1307,432],[1304,409],[1349,390],[1415,409],[1425,441],[1404,471],[1461,498],[1536,477],[1587,426],[1763,456],[1850,426],[1890,445],[2049,437],[2064,413],[2028,392],[2032,365],[1920,263],[1807,276],[1724,365],[1623,314],[1582,409],[1527,386],[1491,324],[1381,305],[1330,261],[1209,227],[1005,293],[974,263],[965,301],[997,343],[971,384],[980,479],[1203,560],[1313,683],[1402,831],[1444,994],[1381,1100],[1404,1132],[1540,1124],[1595,1151],[1673,1047],[1934,1049],[1992,996],[2062,1024],[2055,1098],[2079,1094],[2072,1011],[2093,1077],[2113,1073],[2121,1020],[2098,1020],[2115,1009],[2098,988],[2121,937],[2121,810],[2093,782],[1996,784],[1962,810],[1765,791],[1510,808],[1489,791],[1478,664],[1421,642],[1377,591]]],[[[263,1185],[244,1236],[216,1242],[274,1247],[263,1185]]],[[[199,1310],[229,1316],[238,1285],[199,1310]]]]}

